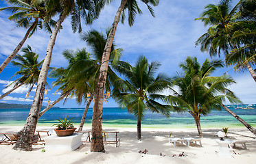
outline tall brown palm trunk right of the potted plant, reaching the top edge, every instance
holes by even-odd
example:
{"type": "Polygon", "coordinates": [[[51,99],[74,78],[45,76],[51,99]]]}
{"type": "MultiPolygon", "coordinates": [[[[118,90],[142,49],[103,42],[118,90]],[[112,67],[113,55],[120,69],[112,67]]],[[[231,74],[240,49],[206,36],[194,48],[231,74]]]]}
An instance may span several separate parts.
{"type": "Polygon", "coordinates": [[[102,137],[102,105],[104,98],[104,86],[106,83],[106,74],[108,71],[108,59],[110,56],[111,46],[113,44],[113,39],[115,37],[115,31],[119,23],[119,18],[121,16],[121,11],[124,9],[124,5],[127,0],[121,2],[117,13],[115,14],[115,19],[112,24],[112,29],[106,40],[106,45],[104,48],[104,53],[102,55],[102,64],[100,66],[100,76],[97,81],[95,103],[93,106],[93,121],[92,121],[92,140],[91,140],[91,152],[105,152],[102,137]]]}

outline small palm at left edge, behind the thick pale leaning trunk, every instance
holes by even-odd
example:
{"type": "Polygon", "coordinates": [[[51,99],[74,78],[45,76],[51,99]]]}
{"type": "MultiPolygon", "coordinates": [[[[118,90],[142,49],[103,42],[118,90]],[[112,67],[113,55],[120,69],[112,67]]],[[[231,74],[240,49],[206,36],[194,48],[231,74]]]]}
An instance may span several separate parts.
{"type": "Polygon", "coordinates": [[[10,94],[18,87],[21,87],[21,85],[31,85],[31,91],[34,84],[38,81],[38,75],[40,73],[40,67],[43,64],[43,61],[38,62],[38,54],[34,53],[29,45],[27,45],[27,48],[23,48],[21,51],[24,53],[24,55],[16,55],[14,59],[17,59],[18,61],[12,61],[14,66],[19,66],[21,68],[21,70],[16,72],[12,77],[14,77],[16,74],[19,74],[21,77],[10,83],[10,85],[14,84],[14,87],[10,91],[1,95],[0,99],[10,94]]]}

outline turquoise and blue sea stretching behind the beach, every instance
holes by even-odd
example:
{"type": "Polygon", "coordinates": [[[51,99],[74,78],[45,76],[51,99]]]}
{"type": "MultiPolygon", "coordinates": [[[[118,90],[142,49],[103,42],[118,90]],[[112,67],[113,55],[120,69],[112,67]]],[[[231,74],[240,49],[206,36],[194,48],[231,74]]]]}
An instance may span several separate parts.
{"type": "MultiPolygon", "coordinates": [[[[256,126],[256,109],[235,109],[232,111],[240,115],[242,119],[256,126]]],[[[0,126],[23,126],[30,109],[0,109],[0,126]]],[[[83,108],[52,108],[49,109],[38,121],[38,126],[51,126],[58,117],[69,116],[73,118],[75,125],[80,123],[83,108]]],[[[85,126],[91,126],[93,109],[89,109],[86,115],[85,126]]],[[[135,116],[128,113],[126,109],[104,108],[104,127],[137,127],[135,116]]],[[[209,115],[202,115],[202,128],[222,128],[222,127],[244,127],[232,115],[224,111],[213,110],[209,115]]],[[[189,113],[172,113],[170,118],[165,118],[159,113],[147,112],[142,121],[142,127],[152,128],[195,128],[194,118],[189,113]]]]}

